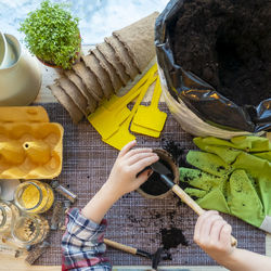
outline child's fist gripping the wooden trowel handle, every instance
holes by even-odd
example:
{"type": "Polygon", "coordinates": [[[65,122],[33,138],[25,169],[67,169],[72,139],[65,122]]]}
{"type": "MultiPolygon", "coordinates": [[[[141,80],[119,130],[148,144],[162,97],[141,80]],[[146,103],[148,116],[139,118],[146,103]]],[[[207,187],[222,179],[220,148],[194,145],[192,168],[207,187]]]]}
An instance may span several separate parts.
{"type": "Polygon", "coordinates": [[[218,262],[235,249],[231,245],[232,228],[218,211],[209,210],[198,217],[194,242],[218,262]]]}

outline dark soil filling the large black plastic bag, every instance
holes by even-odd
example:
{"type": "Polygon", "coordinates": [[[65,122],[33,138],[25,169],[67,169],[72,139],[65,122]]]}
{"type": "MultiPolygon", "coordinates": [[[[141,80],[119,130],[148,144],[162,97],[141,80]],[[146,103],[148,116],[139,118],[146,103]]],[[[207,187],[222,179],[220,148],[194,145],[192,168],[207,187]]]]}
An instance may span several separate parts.
{"type": "Polygon", "coordinates": [[[176,62],[237,105],[271,98],[271,1],[184,0],[170,25],[176,62]]]}

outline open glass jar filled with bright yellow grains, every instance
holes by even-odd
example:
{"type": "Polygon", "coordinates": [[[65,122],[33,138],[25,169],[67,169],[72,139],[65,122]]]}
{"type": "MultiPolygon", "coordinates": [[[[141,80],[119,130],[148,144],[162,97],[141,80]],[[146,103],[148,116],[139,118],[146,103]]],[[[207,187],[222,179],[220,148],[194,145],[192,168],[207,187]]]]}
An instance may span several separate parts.
{"type": "Polygon", "coordinates": [[[26,181],[15,190],[14,201],[25,212],[41,214],[52,207],[54,194],[48,183],[36,180],[26,181]]]}

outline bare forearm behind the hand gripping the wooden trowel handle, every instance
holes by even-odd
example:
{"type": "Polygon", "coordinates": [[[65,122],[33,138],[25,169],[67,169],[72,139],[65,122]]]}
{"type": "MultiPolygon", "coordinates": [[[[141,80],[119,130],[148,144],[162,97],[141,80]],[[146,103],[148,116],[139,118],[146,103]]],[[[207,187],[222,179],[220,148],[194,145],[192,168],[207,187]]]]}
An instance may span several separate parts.
{"type": "Polygon", "coordinates": [[[271,270],[271,258],[240,248],[235,248],[231,255],[217,261],[231,271],[271,270]]]}

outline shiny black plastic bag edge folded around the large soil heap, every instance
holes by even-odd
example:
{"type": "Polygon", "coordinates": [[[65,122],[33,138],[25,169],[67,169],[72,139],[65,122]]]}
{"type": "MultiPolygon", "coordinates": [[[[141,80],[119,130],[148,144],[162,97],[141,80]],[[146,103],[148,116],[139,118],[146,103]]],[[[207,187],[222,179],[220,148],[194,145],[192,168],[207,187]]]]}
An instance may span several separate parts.
{"type": "MultiPolygon", "coordinates": [[[[180,16],[180,9],[184,2],[192,1],[171,0],[156,20],[157,62],[164,72],[167,89],[171,96],[177,102],[178,98],[181,99],[194,114],[211,126],[231,131],[259,132],[270,130],[271,96],[261,101],[257,106],[238,106],[217,92],[208,82],[177,64],[170,28],[180,16]]],[[[269,91],[271,91],[271,86],[269,91]]]]}

